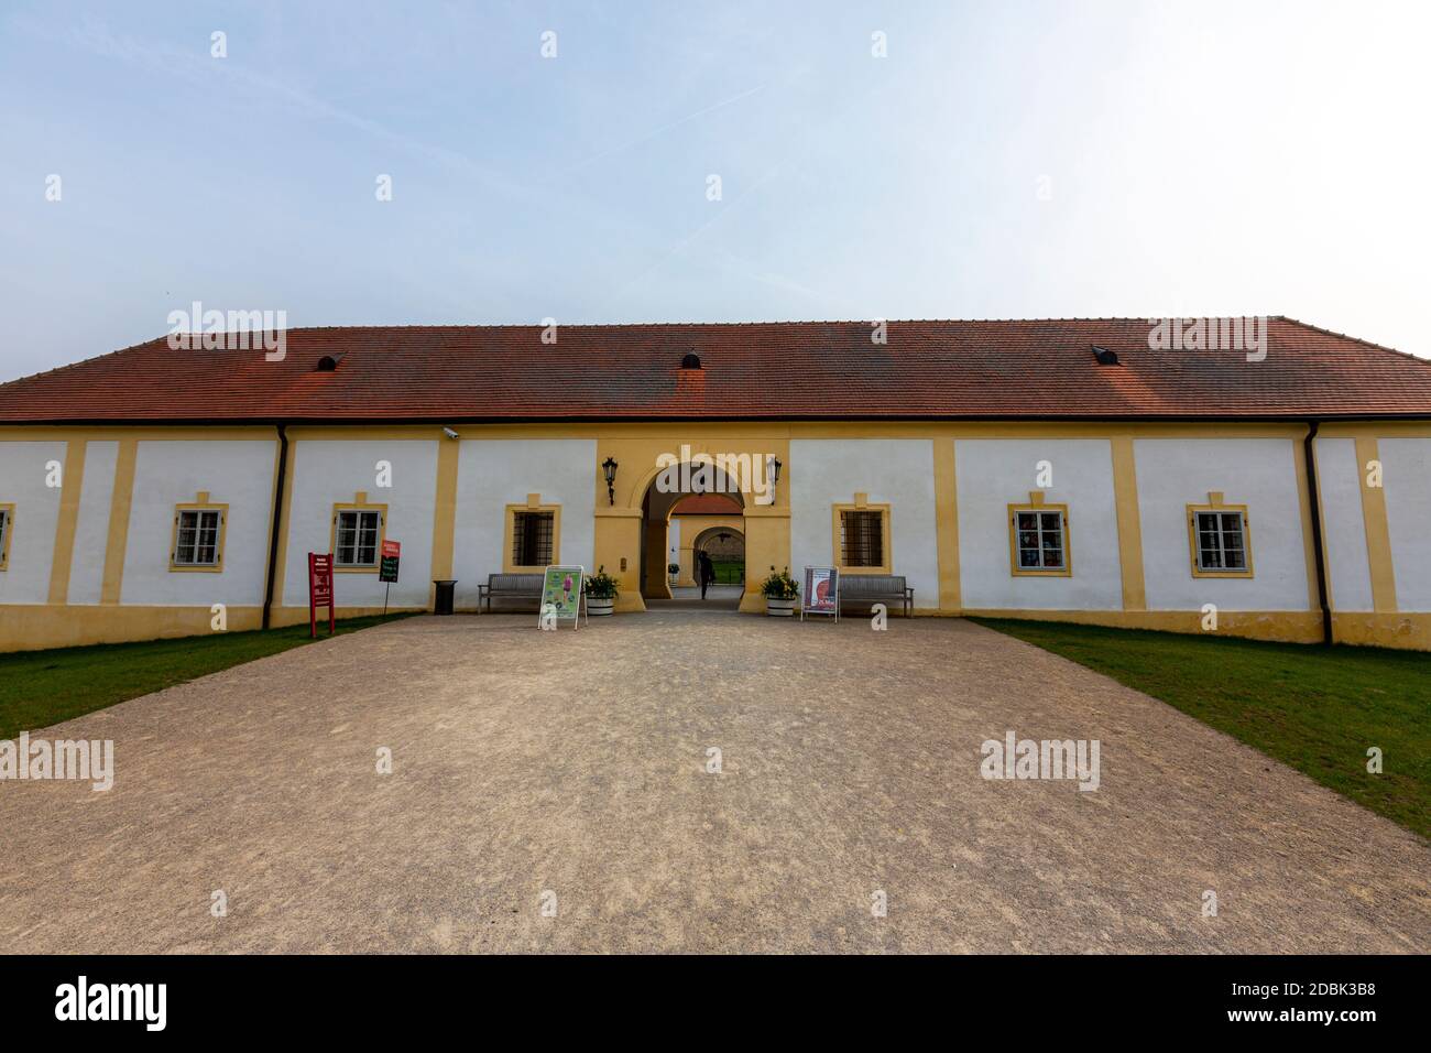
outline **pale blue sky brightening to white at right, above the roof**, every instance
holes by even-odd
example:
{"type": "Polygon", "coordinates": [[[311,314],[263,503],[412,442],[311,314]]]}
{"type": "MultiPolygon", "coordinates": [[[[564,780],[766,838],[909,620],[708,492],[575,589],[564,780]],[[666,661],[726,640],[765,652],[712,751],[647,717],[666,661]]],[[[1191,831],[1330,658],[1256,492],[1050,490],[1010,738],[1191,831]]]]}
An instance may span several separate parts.
{"type": "Polygon", "coordinates": [[[7,4],[0,380],[195,299],[290,325],[1286,314],[1431,357],[1428,9],[7,4]]]}

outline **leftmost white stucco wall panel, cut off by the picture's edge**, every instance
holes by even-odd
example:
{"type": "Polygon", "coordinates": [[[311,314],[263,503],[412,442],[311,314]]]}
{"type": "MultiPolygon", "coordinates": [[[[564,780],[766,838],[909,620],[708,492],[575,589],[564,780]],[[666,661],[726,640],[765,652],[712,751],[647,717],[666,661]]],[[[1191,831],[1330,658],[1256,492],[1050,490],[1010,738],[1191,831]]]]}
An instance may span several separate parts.
{"type": "Polygon", "coordinates": [[[64,464],[64,443],[0,443],[0,501],[14,504],[10,569],[0,570],[0,603],[46,603],[60,490],[44,484],[49,461],[64,464]]]}

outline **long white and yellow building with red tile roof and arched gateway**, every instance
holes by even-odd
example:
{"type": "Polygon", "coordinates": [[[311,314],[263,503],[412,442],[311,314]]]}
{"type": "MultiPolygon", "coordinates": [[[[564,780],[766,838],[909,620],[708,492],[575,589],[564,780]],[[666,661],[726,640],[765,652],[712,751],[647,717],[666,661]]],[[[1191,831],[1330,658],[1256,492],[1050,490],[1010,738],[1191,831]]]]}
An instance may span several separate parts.
{"type": "Polygon", "coordinates": [[[635,613],[703,516],[751,613],[827,566],[919,616],[1431,648],[1431,364],[1289,318],[273,337],[0,385],[0,650],[306,620],[309,553],[341,616],[548,564],[635,613]]]}

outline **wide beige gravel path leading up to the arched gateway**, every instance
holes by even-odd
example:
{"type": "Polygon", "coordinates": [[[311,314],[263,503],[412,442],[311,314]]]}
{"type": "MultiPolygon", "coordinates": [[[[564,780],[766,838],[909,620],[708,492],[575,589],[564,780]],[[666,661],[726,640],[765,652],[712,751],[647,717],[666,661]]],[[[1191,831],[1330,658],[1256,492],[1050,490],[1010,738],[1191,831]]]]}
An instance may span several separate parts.
{"type": "Polygon", "coordinates": [[[1424,841],[959,620],[416,617],[34,735],[116,782],[0,782],[11,951],[1431,950],[1424,841]]]}

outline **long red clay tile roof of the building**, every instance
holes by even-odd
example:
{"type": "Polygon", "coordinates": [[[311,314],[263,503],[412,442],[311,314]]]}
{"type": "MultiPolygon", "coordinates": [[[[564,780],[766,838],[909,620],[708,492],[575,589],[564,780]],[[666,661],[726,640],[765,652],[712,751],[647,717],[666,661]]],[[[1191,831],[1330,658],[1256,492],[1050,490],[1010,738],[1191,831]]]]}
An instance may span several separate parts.
{"type": "Polygon", "coordinates": [[[1146,319],[352,327],[288,357],[165,338],[0,385],[0,423],[1431,415],[1431,362],[1286,318],[1268,355],[1152,351],[1146,319]],[[1118,352],[1098,365],[1092,345],[1118,352]],[[688,352],[700,371],[680,370],[688,352]],[[333,372],[318,360],[345,357],[333,372]]]}

